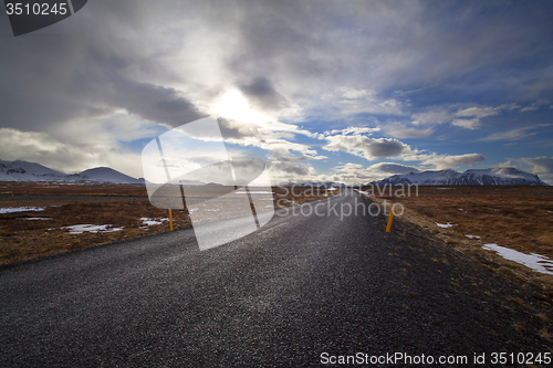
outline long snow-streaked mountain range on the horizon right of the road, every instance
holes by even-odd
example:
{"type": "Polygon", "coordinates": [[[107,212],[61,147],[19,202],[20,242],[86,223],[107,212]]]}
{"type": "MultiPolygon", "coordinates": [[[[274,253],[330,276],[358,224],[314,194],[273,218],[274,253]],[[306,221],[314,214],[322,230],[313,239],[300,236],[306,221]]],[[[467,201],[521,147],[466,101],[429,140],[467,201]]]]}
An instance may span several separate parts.
{"type": "Polygon", "coordinates": [[[547,186],[536,175],[515,168],[409,172],[374,181],[374,186],[547,186]]]}

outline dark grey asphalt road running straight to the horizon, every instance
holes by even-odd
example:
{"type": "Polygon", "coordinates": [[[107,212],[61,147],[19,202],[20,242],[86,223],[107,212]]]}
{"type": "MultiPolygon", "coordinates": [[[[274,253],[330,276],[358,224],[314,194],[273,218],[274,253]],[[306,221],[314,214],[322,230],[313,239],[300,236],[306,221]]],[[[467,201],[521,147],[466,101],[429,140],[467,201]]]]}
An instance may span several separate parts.
{"type": "Polygon", "coordinates": [[[385,233],[368,204],[349,192],[280,209],[257,232],[204,252],[186,229],[0,269],[0,366],[468,357],[436,365],[455,367],[487,353],[489,367],[499,366],[493,351],[549,351],[529,327],[540,324],[524,307],[532,301],[507,303],[512,285],[410,224],[385,233]],[[309,215],[316,204],[323,215],[309,215]],[[357,215],[345,215],[355,204],[357,215]]]}

